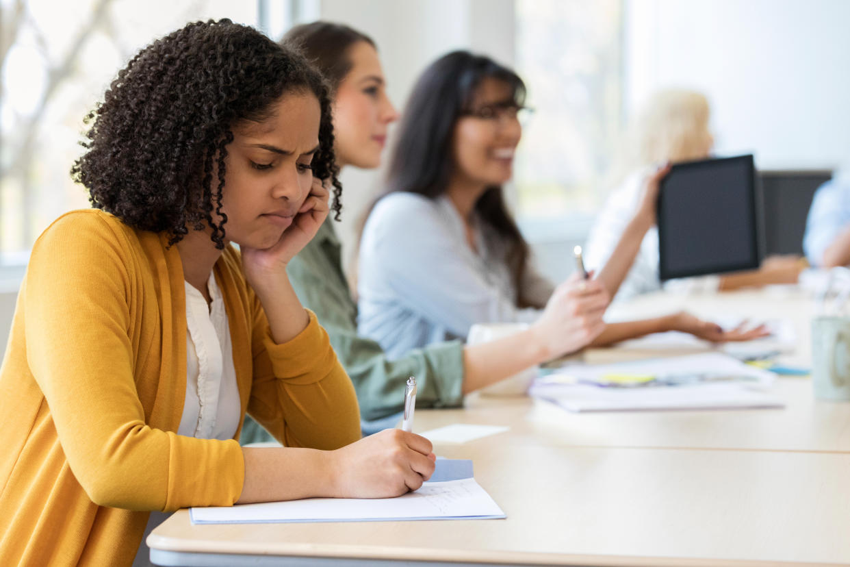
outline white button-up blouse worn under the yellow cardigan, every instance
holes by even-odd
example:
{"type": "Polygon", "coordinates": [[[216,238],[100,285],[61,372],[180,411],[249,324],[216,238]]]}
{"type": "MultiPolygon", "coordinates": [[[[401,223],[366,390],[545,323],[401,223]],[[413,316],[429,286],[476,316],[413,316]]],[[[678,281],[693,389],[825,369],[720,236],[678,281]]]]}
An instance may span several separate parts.
{"type": "MultiPolygon", "coordinates": [[[[212,303],[185,282],[186,398],[177,433],[199,439],[233,439],[241,418],[236,369],[224,299],[210,273],[207,291],[212,303]]],[[[150,565],[144,540],[170,513],[151,512],[133,567],[150,565]]]]}

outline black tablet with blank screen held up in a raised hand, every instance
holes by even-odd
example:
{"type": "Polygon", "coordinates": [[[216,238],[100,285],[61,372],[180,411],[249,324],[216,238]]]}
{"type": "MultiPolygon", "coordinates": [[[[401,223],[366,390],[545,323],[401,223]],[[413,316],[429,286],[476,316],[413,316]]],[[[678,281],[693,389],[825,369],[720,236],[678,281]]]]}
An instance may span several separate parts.
{"type": "Polygon", "coordinates": [[[674,165],[661,180],[661,280],[759,265],[756,171],[752,156],[674,165]]]}

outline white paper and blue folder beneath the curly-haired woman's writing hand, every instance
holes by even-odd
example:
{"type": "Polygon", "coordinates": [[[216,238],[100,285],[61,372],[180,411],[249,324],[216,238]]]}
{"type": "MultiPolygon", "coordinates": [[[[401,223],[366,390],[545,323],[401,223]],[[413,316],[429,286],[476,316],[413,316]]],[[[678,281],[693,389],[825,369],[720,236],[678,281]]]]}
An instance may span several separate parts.
{"type": "Polygon", "coordinates": [[[473,478],[472,461],[437,459],[419,490],[396,498],[307,498],[231,507],[193,507],[192,524],[384,522],[501,519],[505,513],[473,478]]]}

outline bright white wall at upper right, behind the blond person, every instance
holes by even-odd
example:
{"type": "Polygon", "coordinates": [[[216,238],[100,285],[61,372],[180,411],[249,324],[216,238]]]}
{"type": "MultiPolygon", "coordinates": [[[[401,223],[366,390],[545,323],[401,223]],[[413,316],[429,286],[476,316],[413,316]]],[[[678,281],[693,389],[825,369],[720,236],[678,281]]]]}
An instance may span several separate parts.
{"type": "Polygon", "coordinates": [[[655,88],[697,88],[718,153],[835,167],[850,156],[848,30],[847,0],[628,0],[626,115],[655,88]]]}

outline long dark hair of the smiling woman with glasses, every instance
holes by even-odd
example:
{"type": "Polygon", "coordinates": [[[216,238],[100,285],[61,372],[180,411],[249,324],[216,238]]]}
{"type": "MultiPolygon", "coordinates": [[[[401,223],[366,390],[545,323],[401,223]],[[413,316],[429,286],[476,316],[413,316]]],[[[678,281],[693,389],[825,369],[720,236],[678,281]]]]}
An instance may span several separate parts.
{"type": "MultiPolygon", "coordinates": [[[[455,124],[471,110],[475,94],[486,78],[507,84],[513,90],[516,105],[523,105],[522,79],[489,57],[454,51],[428,66],[402,112],[383,196],[406,191],[435,199],[445,193],[456,167],[451,145],[455,124]]],[[[529,247],[507,211],[501,185],[488,187],[476,201],[475,211],[507,243],[505,262],[513,275],[519,307],[542,307],[524,298],[520,283],[528,264],[529,247]]]]}

